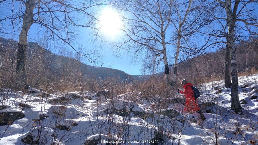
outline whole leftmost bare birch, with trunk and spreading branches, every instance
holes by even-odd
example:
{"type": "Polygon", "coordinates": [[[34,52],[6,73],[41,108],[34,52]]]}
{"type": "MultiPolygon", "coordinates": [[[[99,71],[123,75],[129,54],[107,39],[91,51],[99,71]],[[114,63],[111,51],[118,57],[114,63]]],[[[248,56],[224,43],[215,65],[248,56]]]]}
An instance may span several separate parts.
{"type": "MultiPolygon", "coordinates": [[[[18,87],[26,84],[25,54],[28,32],[33,24],[49,31],[49,40],[61,40],[74,49],[72,42],[76,37],[75,26],[92,27],[97,22],[93,8],[105,3],[100,1],[68,1],[68,0],[11,0],[0,1],[1,9],[11,6],[9,15],[0,17],[1,25],[12,26],[19,33],[16,73],[20,81],[18,87]]],[[[3,27],[1,27],[3,28],[3,27]]],[[[4,29],[5,30],[5,29],[4,29]]],[[[8,29],[7,29],[8,30],[8,29]]],[[[40,30],[39,30],[40,31],[40,30]]],[[[4,32],[7,33],[7,32],[4,32]]],[[[75,52],[76,49],[74,49],[75,52]]],[[[92,62],[92,51],[80,54],[92,62]]],[[[77,52],[79,54],[79,52],[77,52]]]]}

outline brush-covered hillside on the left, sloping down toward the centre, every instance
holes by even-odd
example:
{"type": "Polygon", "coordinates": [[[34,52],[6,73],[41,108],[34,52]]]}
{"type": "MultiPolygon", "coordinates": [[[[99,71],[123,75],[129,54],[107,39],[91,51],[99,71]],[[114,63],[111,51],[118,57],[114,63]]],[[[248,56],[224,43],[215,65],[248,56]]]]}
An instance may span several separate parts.
{"type": "MultiPolygon", "coordinates": [[[[15,60],[18,42],[0,38],[1,52],[1,82],[3,86],[10,86],[14,76],[15,60]],[[8,81],[7,81],[8,80],[8,81]]],[[[148,79],[149,76],[136,76],[112,68],[97,67],[83,64],[79,60],[67,56],[55,55],[35,42],[28,43],[26,51],[30,62],[26,66],[28,85],[40,88],[51,87],[54,89],[94,89],[99,79],[116,78],[118,82],[137,82],[148,79]],[[61,87],[64,85],[66,87],[61,87]],[[59,88],[61,87],[61,88],[59,88]]]]}

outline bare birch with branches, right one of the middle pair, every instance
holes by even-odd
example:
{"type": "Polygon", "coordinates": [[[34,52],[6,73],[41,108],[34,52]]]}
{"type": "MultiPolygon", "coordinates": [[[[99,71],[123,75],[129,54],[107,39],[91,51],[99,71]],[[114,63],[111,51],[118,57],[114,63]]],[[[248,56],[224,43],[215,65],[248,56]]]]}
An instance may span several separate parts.
{"type": "MultiPolygon", "coordinates": [[[[196,47],[196,45],[192,47],[189,45],[189,42],[194,34],[198,33],[203,26],[208,25],[212,21],[208,15],[204,13],[204,9],[202,9],[202,7],[206,7],[207,5],[206,1],[202,0],[173,1],[176,14],[175,17],[172,18],[171,23],[175,27],[175,36],[172,36],[172,38],[176,42],[176,54],[172,85],[175,85],[176,82],[180,48],[185,49],[185,52],[190,55],[195,55],[206,49],[205,46],[207,42],[204,43],[204,46],[200,47],[196,47]]],[[[207,10],[208,8],[205,9],[207,10]]]]}

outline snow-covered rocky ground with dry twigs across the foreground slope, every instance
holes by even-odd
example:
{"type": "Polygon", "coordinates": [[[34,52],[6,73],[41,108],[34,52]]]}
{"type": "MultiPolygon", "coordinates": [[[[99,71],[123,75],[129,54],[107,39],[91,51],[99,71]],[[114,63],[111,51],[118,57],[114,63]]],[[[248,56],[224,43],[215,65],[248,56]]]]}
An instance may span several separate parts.
{"type": "Polygon", "coordinates": [[[230,110],[231,90],[223,81],[202,84],[198,100],[205,121],[196,113],[184,114],[179,102],[159,110],[140,92],[112,96],[107,90],[48,94],[5,89],[0,92],[0,144],[258,144],[257,77],[239,77],[239,113],[230,110]]]}

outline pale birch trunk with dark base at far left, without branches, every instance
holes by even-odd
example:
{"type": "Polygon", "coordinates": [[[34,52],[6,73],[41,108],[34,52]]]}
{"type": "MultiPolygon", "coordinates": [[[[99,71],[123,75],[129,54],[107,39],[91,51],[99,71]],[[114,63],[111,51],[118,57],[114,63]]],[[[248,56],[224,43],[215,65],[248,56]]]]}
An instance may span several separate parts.
{"type": "Polygon", "coordinates": [[[21,32],[19,35],[19,43],[16,60],[17,89],[22,89],[26,85],[25,59],[27,48],[27,37],[30,27],[33,24],[33,10],[36,0],[28,0],[26,2],[26,10],[24,13],[21,32]]]}

